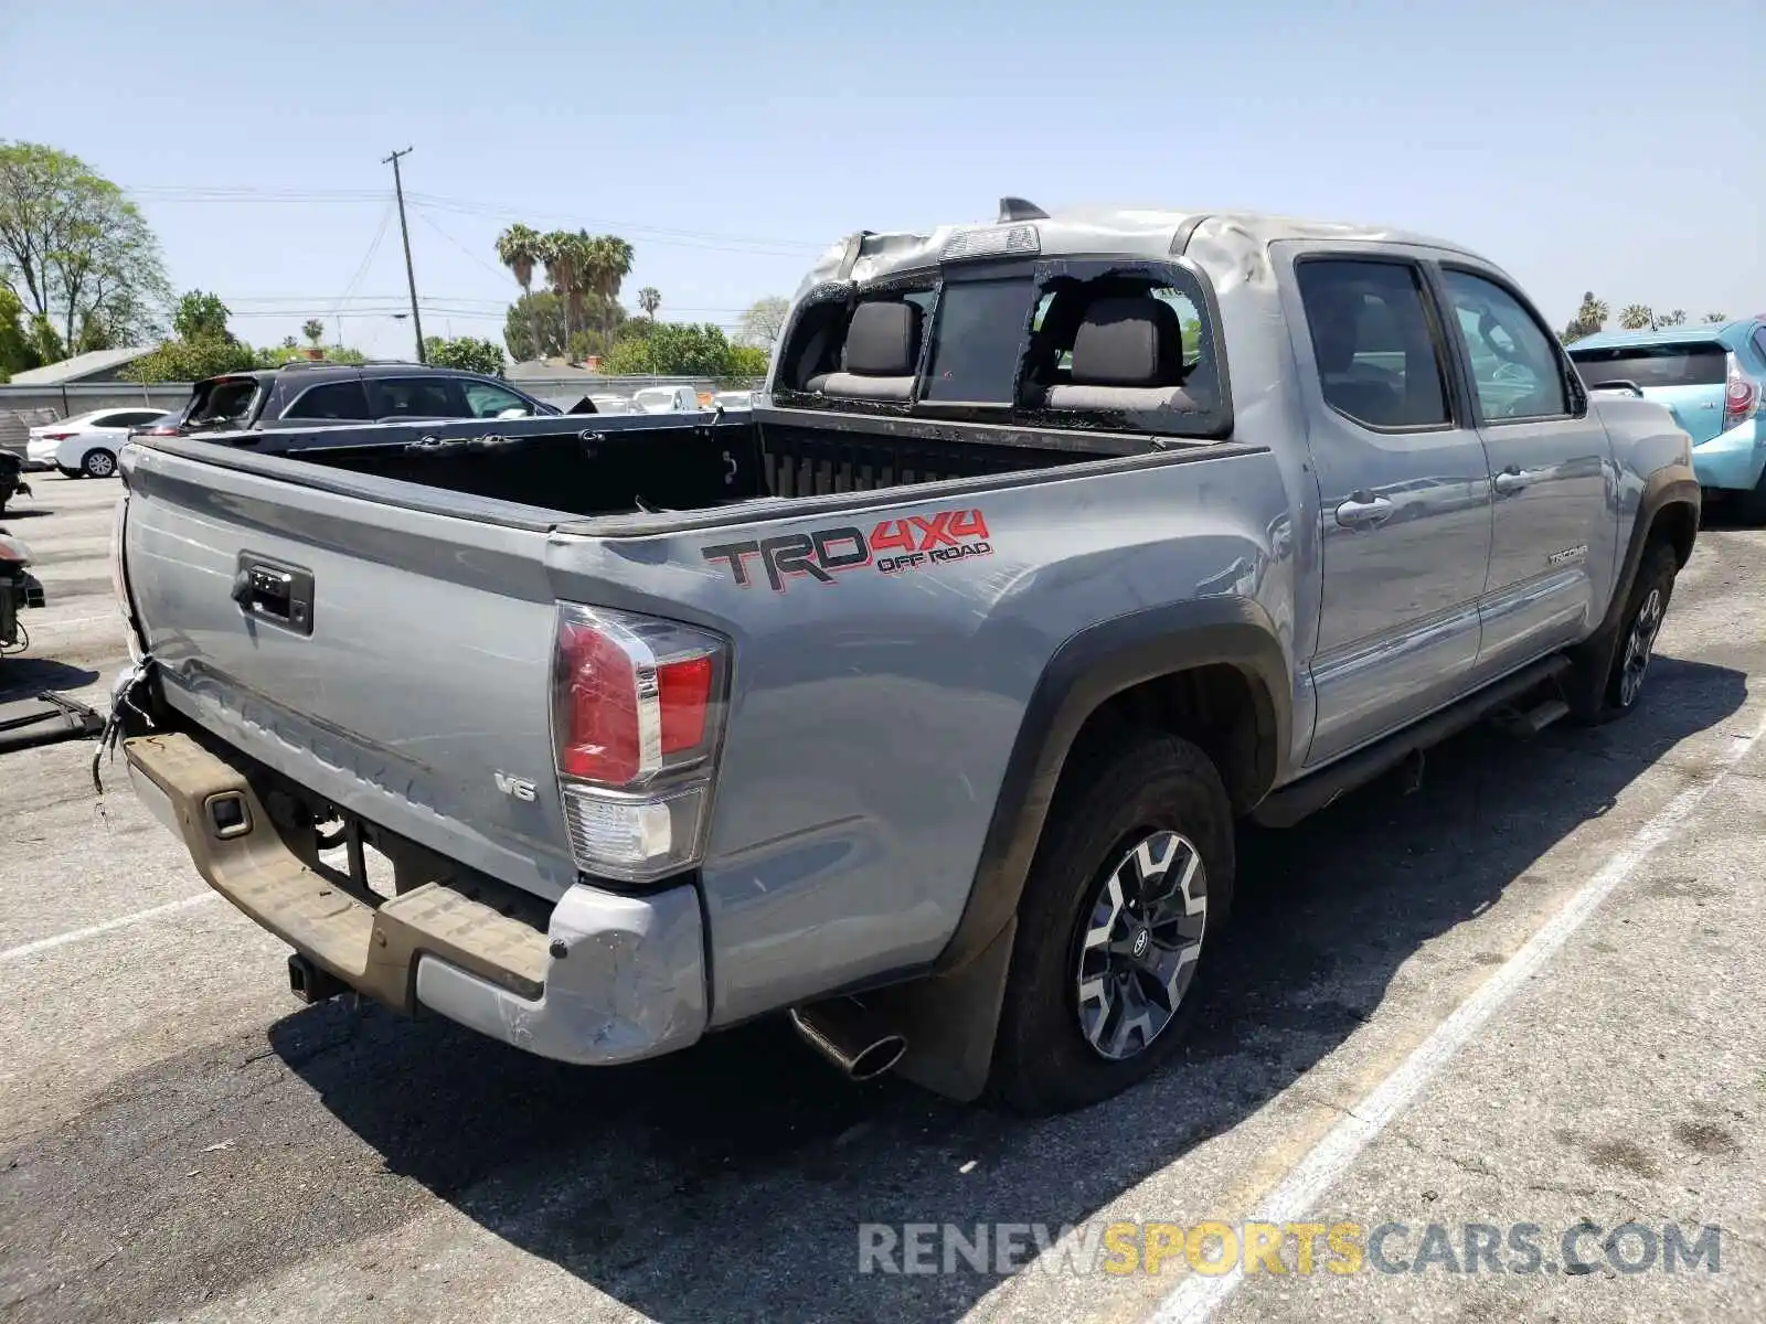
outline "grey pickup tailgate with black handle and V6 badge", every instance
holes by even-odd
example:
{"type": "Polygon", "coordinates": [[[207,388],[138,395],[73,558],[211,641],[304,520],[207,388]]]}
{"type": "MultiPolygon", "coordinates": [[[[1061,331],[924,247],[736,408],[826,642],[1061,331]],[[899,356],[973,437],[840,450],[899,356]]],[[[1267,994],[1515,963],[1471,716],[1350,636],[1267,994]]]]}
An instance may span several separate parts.
{"type": "Polygon", "coordinates": [[[129,588],[168,704],[343,809],[562,895],[544,512],[380,503],[198,445],[127,457],[129,588]]]}

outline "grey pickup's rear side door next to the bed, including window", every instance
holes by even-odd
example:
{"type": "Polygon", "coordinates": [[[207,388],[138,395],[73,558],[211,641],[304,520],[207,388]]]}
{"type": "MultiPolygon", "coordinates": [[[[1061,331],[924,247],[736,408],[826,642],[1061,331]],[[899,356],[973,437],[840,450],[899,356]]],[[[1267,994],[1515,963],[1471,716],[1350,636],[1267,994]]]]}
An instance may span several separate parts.
{"type": "Polygon", "coordinates": [[[1425,251],[1275,249],[1293,263],[1284,300],[1321,496],[1316,764],[1469,688],[1491,480],[1425,251]]]}

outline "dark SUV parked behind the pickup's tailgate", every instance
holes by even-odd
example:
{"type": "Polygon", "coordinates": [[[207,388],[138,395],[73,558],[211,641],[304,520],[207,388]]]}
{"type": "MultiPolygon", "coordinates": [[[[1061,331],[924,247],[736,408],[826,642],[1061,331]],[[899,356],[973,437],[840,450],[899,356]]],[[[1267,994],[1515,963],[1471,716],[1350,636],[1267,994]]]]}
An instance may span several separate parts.
{"type": "Polygon", "coordinates": [[[507,381],[420,364],[311,364],[198,381],[178,431],[311,429],[410,418],[532,418],[562,413],[507,381]]]}

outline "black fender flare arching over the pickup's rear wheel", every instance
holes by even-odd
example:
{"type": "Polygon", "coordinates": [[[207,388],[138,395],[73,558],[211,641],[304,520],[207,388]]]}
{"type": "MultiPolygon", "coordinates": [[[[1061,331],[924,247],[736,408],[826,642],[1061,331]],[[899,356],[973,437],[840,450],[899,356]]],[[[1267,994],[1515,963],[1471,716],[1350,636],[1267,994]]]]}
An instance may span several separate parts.
{"type": "Polygon", "coordinates": [[[1257,704],[1252,798],[1275,784],[1291,749],[1293,683],[1280,636],[1259,604],[1192,598],[1079,630],[1054,650],[1024,708],[968,904],[934,969],[973,960],[1017,913],[1049,803],[1086,718],[1134,685],[1211,664],[1241,671],[1257,704]]]}

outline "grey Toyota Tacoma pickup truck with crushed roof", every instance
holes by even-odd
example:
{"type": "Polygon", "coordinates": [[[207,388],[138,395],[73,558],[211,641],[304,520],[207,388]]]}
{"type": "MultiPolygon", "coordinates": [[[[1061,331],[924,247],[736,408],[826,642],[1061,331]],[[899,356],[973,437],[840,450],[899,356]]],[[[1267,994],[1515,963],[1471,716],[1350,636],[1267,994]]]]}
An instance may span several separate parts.
{"type": "Polygon", "coordinates": [[[1236,819],[1639,703],[1699,524],[1462,247],[1021,199],[834,245],[749,413],[122,470],[129,773],[297,994],[1024,1110],[1178,1047],[1236,819]]]}

